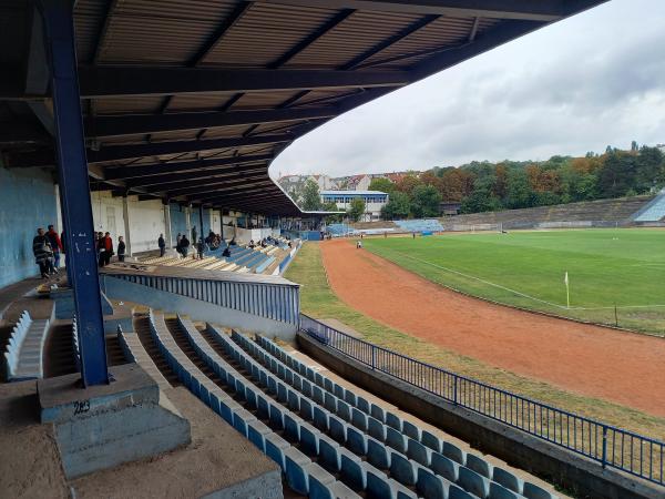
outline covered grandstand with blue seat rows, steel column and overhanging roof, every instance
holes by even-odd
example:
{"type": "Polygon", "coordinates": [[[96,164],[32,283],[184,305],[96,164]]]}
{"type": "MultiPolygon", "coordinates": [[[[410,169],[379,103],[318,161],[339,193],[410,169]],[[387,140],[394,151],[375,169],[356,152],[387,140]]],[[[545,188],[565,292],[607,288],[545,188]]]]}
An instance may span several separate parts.
{"type": "MultiPolygon", "coordinates": [[[[436,425],[400,410],[385,398],[413,394],[397,377],[388,395],[372,385],[380,358],[356,386],[328,370],[335,344],[320,343],[319,363],[276,343],[311,339],[300,287],[282,275],[298,233],[326,216],[273,183],[276,155],[340,113],[597,3],[0,8],[1,495],[561,496],[544,477],[595,497],[657,497],[662,475],[604,469],[525,431],[501,450],[493,438],[508,425],[461,405],[436,425]],[[48,224],[65,265],[42,282],[32,249],[47,243],[33,237],[48,224]],[[125,238],[124,262],[102,265],[98,231],[125,238]],[[225,257],[224,246],[173,253],[176,233],[208,231],[239,244],[225,257]],[[277,245],[246,245],[267,236],[277,245]],[[477,436],[457,440],[451,421],[477,436]]],[[[350,377],[345,363],[336,370],[350,377]]]]}

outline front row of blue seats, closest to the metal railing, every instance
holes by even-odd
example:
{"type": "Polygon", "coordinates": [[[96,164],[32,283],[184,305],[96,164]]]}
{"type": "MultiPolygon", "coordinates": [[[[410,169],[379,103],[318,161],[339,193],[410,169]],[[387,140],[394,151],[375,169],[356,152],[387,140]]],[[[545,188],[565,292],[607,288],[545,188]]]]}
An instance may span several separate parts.
{"type": "Polygon", "coordinates": [[[350,421],[366,429],[370,436],[386,442],[396,450],[406,452],[416,462],[430,467],[444,478],[454,482],[463,482],[464,488],[471,489],[477,496],[520,497],[520,495],[523,495],[532,499],[552,499],[555,497],[541,487],[524,482],[512,472],[500,467],[493,467],[479,456],[467,454],[453,444],[442,441],[437,436],[418,428],[410,421],[402,420],[399,416],[368,403],[365,398],[335,384],[320,373],[315,373],[314,369],[288,355],[265,337],[257,337],[258,345],[241,335],[234,335],[233,338],[243,345],[248,353],[258,356],[262,361],[272,366],[275,374],[280,378],[299,387],[305,393],[311,389],[313,395],[316,397],[317,391],[313,389],[314,386],[317,385],[324,388],[327,391],[324,400],[329,400],[327,405],[329,410],[341,409],[342,416],[350,414],[350,421]],[[264,349],[259,349],[259,346],[264,349]],[[274,357],[267,359],[266,356],[270,354],[274,357]],[[284,364],[275,365],[274,360],[277,359],[283,360],[284,364]],[[290,371],[289,365],[294,368],[294,371],[290,371]],[[307,378],[309,383],[304,379],[299,380],[296,373],[307,378]],[[337,400],[336,406],[335,399],[337,400]],[[365,416],[359,416],[356,410],[365,416]],[[382,422],[386,425],[382,425],[382,422]]]}

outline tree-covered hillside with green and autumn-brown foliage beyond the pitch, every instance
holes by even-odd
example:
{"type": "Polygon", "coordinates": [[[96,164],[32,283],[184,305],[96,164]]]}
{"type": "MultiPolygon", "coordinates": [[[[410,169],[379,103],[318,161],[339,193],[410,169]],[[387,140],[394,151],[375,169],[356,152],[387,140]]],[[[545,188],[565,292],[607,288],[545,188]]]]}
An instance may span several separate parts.
{"type": "Polygon", "coordinates": [[[375,179],[371,190],[390,193],[385,218],[437,216],[439,202],[461,203],[461,213],[492,212],[646,194],[665,185],[665,156],[657,147],[603,154],[552,156],[548,161],[471,162],[375,179]]]}

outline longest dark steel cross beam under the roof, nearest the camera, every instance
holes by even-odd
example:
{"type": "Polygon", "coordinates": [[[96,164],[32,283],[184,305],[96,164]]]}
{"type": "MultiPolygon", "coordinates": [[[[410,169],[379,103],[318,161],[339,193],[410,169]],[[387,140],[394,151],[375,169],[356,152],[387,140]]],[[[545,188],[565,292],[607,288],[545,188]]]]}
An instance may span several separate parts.
{"type": "Polygon", "coordinates": [[[203,92],[265,92],[272,90],[334,90],[403,86],[405,71],[209,69],[165,67],[79,68],[81,96],[172,95],[203,92]]]}

